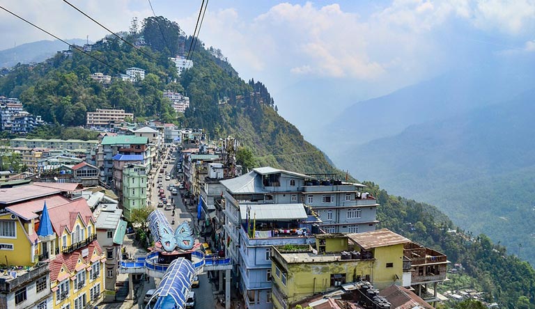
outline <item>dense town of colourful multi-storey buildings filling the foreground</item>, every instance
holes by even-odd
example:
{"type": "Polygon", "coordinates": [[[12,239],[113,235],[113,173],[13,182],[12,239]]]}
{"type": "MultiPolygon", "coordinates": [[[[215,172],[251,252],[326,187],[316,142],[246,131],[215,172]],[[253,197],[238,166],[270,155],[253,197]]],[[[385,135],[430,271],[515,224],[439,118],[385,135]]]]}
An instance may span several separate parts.
{"type": "Polygon", "coordinates": [[[245,171],[235,138],[125,118],[88,113],[88,126],[107,127],[94,141],[2,146],[26,171],[1,172],[0,308],[166,308],[168,296],[176,308],[433,308],[465,298],[437,291],[446,255],[378,228],[366,185],[245,171]]]}

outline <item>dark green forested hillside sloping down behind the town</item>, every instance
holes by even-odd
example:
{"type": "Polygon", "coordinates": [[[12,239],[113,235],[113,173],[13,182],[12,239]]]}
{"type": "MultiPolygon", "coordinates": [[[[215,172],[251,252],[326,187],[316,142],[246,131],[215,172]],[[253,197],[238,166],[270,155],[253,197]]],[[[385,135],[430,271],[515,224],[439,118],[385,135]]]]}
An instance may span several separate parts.
{"type": "MultiPolygon", "coordinates": [[[[117,76],[118,72],[75,52],[72,58],[57,55],[35,67],[17,66],[0,78],[0,95],[20,97],[29,111],[52,123],[82,125],[86,111],[122,108],[138,119],[156,118],[203,127],[212,138],[233,135],[252,150],[257,165],[343,175],[322,152],[304,141],[295,126],[278,115],[276,102],[261,82],[240,79],[217,49],[205,49],[201,42],[196,45],[193,68],[178,77],[168,56],[179,50],[174,49],[175,44],[189,46],[192,38],[186,38],[177,24],[162,17],[150,17],[144,25],[141,33],[151,48],[143,47],[143,51],[149,56],[113,38],[109,38],[106,49],[91,52],[118,71],[132,66],[143,68],[147,72],[144,81],[130,84],[114,79],[111,86],[104,87],[88,75],[104,72],[117,76]],[[162,40],[158,36],[162,32],[154,31],[155,22],[173,40],[162,40]],[[169,42],[174,43],[170,46],[169,42]],[[162,91],[168,89],[190,97],[185,115],[177,118],[169,102],[162,99],[162,91]]],[[[132,40],[141,33],[132,31],[125,38],[132,40]]],[[[484,235],[447,232],[455,227],[431,205],[389,196],[377,185],[368,185],[381,204],[378,216],[382,227],[437,248],[451,262],[462,262],[468,273],[495,297],[494,301],[507,308],[519,308],[522,296],[535,308],[535,274],[529,264],[506,255],[503,247],[493,246],[484,235]],[[412,226],[409,223],[414,229],[408,228],[412,226]]]]}

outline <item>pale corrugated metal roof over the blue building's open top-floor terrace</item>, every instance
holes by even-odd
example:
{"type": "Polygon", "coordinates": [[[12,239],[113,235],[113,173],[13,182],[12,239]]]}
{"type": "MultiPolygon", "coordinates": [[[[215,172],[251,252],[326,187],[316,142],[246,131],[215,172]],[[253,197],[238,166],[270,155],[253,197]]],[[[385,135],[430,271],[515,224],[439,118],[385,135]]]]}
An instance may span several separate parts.
{"type": "Polygon", "coordinates": [[[249,208],[249,220],[256,217],[256,220],[295,220],[307,219],[307,212],[304,205],[299,204],[251,204],[240,205],[240,216],[242,220],[247,219],[247,208],[249,208]]]}

